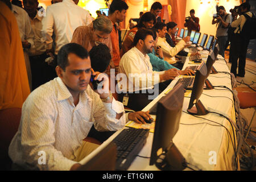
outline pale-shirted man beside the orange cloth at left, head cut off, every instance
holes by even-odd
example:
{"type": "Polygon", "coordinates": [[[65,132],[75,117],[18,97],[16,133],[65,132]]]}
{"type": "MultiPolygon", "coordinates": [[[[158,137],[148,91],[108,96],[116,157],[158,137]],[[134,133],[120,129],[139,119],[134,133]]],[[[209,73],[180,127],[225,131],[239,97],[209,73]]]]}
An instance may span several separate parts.
{"type": "Polygon", "coordinates": [[[30,84],[30,89],[32,90],[32,74],[31,74],[30,59],[28,56],[28,51],[32,47],[34,47],[34,39],[33,39],[34,32],[31,28],[30,18],[27,12],[16,5],[11,5],[11,6],[19,27],[19,35],[20,35],[20,39],[22,40],[24,59],[25,59],[26,68],[27,68],[28,83],[30,84]]]}

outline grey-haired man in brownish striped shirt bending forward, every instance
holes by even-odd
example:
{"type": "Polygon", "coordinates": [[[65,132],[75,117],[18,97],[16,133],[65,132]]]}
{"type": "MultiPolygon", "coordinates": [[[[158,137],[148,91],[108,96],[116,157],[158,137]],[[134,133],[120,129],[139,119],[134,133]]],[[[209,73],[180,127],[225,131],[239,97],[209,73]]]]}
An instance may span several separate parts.
{"type": "MultiPolygon", "coordinates": [[[[93,46],[104,43],[109,47],[110,53],[112,54],[112,42],[110,38],[112,28],[111,20],[106,16],[100,16],[88,26],[77,27],[73,33],[71,43],[80,44],[88,52],[93,46]]],[[[114,68],[113,61],[110,61],[110,67],[114,68]]]]}

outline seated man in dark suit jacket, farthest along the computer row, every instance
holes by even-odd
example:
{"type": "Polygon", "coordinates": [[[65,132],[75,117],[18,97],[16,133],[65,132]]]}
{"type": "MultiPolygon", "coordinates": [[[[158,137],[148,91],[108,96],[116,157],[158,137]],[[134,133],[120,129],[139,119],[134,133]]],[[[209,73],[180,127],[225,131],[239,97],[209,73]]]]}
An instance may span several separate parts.
{"type": "MultiPolygon", "coordinates": [[[[177,24],[175,22],[168,22],[167,24],[167,32],[166,32],[166,42],[171,46],[175,47],[175,33],[177,31],[177,24]]],[[[189,46],[190,44],[187,44],[185,47],[189,46]]],[[[195,56],[200,55],[199,52],[186,52],[184,49],[182,49],[179,53],[177,53],[179,56],[195,56]]]]}

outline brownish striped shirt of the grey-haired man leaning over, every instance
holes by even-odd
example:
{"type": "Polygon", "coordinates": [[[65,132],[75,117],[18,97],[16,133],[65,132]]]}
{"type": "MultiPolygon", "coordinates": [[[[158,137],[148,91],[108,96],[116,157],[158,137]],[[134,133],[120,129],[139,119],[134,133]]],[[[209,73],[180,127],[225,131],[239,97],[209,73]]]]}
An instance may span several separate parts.
{"type": "MultiPolygon", "coordinates": [[[[88,26],[77,27],[73,33],[71,43],[80,44],[89,52],[93,46],[96,46],[96,43],[93,40],[92,27],[93,27],[93,23],[90,23],[88,26]]],[[[112,42],[111,42],[110,35],[108,36],[107,39],[104,39],[103,43],[106,44],[106,46],[108,46],[108,48],[110,49],[111,55],[113,55],[112,42]]]]}

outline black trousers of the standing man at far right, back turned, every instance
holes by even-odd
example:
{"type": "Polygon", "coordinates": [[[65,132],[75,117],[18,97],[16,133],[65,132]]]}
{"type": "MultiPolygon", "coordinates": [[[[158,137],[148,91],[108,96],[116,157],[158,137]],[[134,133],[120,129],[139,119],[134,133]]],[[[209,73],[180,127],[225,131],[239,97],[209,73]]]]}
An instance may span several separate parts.
{"type": "Polygon", "coordinates": [[[250,40],[243,38],[240,34],[234,34],[232,37],[232,65],[230,72],[234,76],[245,76],[245,62],[247,47],[250,40]],[[239,60],[238,60],[239,59],[239,60]],[[237,62],[238,62],[238,74],[237,74],[237,62]]]}

